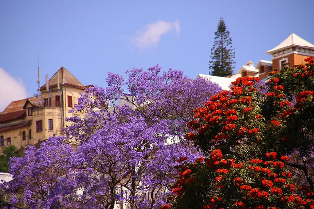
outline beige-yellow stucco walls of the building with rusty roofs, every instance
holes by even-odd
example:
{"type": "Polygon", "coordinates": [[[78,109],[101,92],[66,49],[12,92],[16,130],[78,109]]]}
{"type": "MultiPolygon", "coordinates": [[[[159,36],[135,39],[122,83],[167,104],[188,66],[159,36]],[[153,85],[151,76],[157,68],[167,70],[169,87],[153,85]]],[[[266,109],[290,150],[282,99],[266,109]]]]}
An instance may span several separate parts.
{"type": "MultiPolygon", "coordinates": [[[[74,104],[78,104],[78,98],[80,97],[80,93],[84,93],[84,90],[61,86],[61,90],[58,91],[56,88],[52,88],[50,92],[46,90],[42,91],[42,99],[51,98],[51,106],[33,109],[32,116],[28,116],[27,108],[32,107],[30,103],[26,106],[26,117],[19,120],[9,121],[5,123],[6,125],[15,124],[22,121],[32,120],[31,125],[25,126],[22,128],[8,130],[0,133],[0,136],[3,135],[4,139],[11,137],[11,145],[15,145],[18,149],[21,147],[25,147],[27,145],[33,145],[38,143],[39,141],[43,141],[52,137],[54,135],[61,136],[63,135],[62,129],[63,125],[67,125],[65,118],[73,116],[72,113],[68,113],[71,110],[71,107],[68,107],[68,96],[72,96],[72,107],[74,104]],[[55,96],[60,95],[60,107],[55,106],[55,96]],[[62,100],[63,95],[63,100],[62,100]],[[62,103],[63,101],[63,103],[62,103]],[[49,130],[48,120],[52,119],[53,121],[53,130],[49,130]],[[42,131],[36,132],[36,121],[42,120],[42,131]],[[31,139],[29,139],[29,130],[31,130],[31,139]],[[26,140],[22,140],[22,132],[26,132],[26,140]]],[[[3,125],[3,124],[2,124],[3,125]]],[[[7,145],[7,140],[4,141],[4,147],[7,145]]],[[[0,154],[3,154],[3,148],[0,146],[0,154]]]]}

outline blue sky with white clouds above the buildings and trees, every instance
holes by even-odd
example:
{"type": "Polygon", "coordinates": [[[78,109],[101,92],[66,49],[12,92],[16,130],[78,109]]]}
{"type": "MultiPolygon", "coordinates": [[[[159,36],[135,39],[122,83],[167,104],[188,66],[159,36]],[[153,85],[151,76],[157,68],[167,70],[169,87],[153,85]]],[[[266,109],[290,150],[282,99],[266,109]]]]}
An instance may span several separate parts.
{"type": "Polygon", "coordinates": [[[271,60],[265,51],[292,33],[314,44],[313,8],[313,0],[2,0],[1,100],[36,93],[37,51],[41,85],[61,66],[84,85],[104,87],[109,71],[157,63],[190,78],[208,74],[220,17],[230,31],[237,71],[247,60],[271,60]]]}

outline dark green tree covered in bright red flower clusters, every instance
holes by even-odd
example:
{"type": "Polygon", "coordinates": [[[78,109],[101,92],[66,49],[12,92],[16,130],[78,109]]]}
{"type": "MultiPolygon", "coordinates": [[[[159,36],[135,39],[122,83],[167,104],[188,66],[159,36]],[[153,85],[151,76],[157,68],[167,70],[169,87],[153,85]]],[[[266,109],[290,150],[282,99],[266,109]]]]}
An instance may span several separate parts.
{"type": "Polygon", "coordinates": [[[182,164],[173,208],[314,208],[314,57],[194,110],[187,134],[208,158],[182,164]],[[223,158],[224,157],[224,158],[223,158]],[[201,162],[203,161],[203,162],[201,162]]]}

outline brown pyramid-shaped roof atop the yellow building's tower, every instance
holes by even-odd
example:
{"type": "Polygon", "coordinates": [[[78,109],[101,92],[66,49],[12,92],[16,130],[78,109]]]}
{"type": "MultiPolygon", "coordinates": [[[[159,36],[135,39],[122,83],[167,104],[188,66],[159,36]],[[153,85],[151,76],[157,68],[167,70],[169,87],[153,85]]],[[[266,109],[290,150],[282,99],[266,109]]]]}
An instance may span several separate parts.
{"type": "MultiPolygon", "coordinates": [[[[49,79],[48,85],[49,88],[58,86],[58,72],[59,72],[59,84],[60,86],[71,86],[78,89],[87,89],[81,82],[78,81],[68,70],[63,66],[49,79]]],[[[46,83],[43,85],[40,90],[46,89],[46,83]]]]}

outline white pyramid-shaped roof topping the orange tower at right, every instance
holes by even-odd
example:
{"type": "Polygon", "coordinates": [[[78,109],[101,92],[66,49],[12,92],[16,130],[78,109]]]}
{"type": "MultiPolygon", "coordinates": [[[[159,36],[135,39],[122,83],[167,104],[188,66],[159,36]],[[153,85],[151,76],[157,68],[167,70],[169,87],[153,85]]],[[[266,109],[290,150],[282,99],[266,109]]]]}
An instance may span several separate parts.
{"type": "Polygon", "coordinates": [[[286,47],[291,47],[291,46],[303,46],[306,48],[313,48],[314,45],[311,44],[310,42],[305,41],[301,37],[297,36],[296,34],[292,33],[287,39],[285,39],[282,43],[280,43],[278,46],[275,48],[266,51],[266,54],[271,54],[274,51],[277,51],[279,49],[283,49],[286,47]]]}

